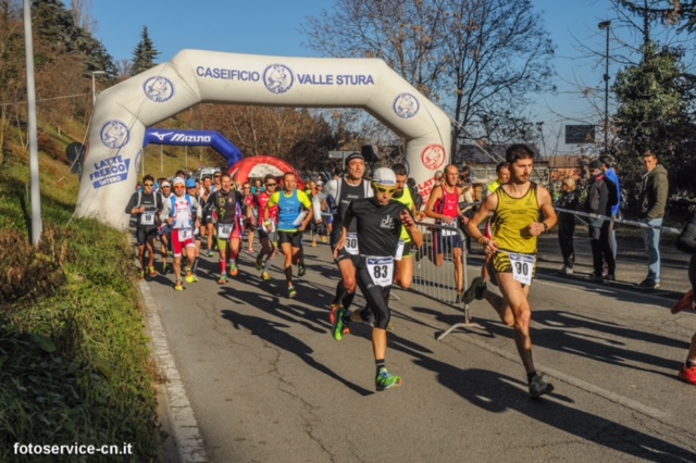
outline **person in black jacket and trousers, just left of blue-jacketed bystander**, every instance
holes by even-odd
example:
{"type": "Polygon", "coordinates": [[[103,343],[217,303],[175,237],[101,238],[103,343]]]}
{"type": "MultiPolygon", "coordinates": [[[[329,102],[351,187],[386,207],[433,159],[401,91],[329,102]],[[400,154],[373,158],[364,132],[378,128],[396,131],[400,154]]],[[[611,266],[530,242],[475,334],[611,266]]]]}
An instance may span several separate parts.
{"type": "MultiPolygon", "coordinates": [[[[613,205],[610,200],[610,191],[616,191],[616,186],[609,180],[601,170],[601,161],[593,161],[589,164],[589,172],[592,179],[589,183],[589,190],[587,192],[587,212],[597,214],[602,217],[611,216],[611,208],[613,205]]],[[[616,198],[616,195],[612,196],[616,198]]],[[[592,260],[594,274],[593,277],[597,280],[610,280],[616,279],[617,262],[613,259],[613,251],[611,250],[611,235],[610,235],[611,221],[601,217],[592,217],[589,220],[589,243],[592,245],[592,260]],[[607,263],[608,274],[602,276],[604,263],[607,263]]]]}

